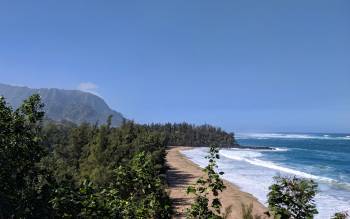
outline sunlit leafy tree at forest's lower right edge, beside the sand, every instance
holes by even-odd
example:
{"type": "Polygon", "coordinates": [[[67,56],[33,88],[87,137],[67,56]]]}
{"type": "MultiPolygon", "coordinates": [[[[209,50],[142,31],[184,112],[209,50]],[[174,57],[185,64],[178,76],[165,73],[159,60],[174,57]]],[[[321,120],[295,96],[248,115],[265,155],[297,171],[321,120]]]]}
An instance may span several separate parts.
{"type": "Polygon", "coordinates": [[[115,170],[114,188],[118,188],[124,218],[170,218],[171,202],[165,192],[151,153],[137,153],[126,166],[115,170]]]}

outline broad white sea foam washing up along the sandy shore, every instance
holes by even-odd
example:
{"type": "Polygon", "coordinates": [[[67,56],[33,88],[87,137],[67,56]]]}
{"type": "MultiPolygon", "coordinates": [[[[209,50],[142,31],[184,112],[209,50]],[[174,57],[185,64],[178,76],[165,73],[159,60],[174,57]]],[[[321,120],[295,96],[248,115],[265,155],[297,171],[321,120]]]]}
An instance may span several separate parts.
{"type": "MultiPolygon", "coordinates": [[[[206,166],[207,148],[196,148],[184,151],[183,154],[201,167],[206,166]]],[[[274,153],[272,151],[272,153],[274,153]]],[[[278,152],[276,152],[278,153],[278,152]]],[[[273,183],[273,176],[285,173],[315,179],[320,186],[333,185],[334,180],[327,177],[315,176],[299,170],[287,168],[264,159],[263,152],[254,150],[223,149],[220,150],[222,159],[218,161],[220,171],[225,172],[223,178],[231,181],[241,190],[253,194],[258,200],[266,205],[269,186],[273,183]]],[[[326,186],[328,188],[329,186],[326,186]]],[[[350,200],[342,199],[344,190],[322,190],[316,197],[316,205],[319,214],[316,219],[330,218],[335,212],[349,210],[350,200]]]]}

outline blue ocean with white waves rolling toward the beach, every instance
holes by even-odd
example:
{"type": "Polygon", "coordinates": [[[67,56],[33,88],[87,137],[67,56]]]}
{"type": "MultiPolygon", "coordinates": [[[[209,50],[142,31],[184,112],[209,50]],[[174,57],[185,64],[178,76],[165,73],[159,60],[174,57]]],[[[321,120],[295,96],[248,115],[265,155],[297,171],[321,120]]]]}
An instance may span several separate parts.
{"type": "MultiPolygon", "coordinates": [[[[218,161],[223,178],[265,204],[276,175],[304,177],[318,183],[315,197],[319,214],[330,218],[350,210],[350,134],[249,133],[237,134],[239,144],[276,150],[222,149],[218,161]]],[[[207,148],[182,152],[201,167],[207,148]]]]}

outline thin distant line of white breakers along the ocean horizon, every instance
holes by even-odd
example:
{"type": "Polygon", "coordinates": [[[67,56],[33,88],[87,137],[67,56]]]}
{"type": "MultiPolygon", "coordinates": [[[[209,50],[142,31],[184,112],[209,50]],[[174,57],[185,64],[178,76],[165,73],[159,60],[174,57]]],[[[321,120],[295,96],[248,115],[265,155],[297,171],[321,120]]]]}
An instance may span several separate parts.
{"type": "Polygon", "coordinates": [[[289,133],[238,133],[237,139],[320,139],[320,140],[350,140],[350,136],[330,136],[316,134],[289,134],[289,133]]]}

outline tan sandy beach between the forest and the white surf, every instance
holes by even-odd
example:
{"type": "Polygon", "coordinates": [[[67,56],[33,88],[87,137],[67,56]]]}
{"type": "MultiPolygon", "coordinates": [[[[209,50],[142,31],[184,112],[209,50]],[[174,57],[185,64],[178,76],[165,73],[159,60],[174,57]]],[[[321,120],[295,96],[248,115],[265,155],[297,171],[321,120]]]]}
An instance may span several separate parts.
{"type": "MultiPolygon", "coordinates": [[[[174,218],[184,218],[186,208],[190,207],[192,197],[186,194],[187,186],[195,183],[196,179],[203,175],[202,169],[180,151],[190,150],[193,147],[169,146],[167,147],[167,180],[169,182],[169,196],[173,201],[174,218]]],[[[232,213],[228,218],[242,218],[242,204],[253,205],[253,215],[264,215],[267,208],[262,205],[253,195],[243,192],[238,186],[224,180],[226,189],[220,194],[223,211],[231,206],[232,213]]]]}

